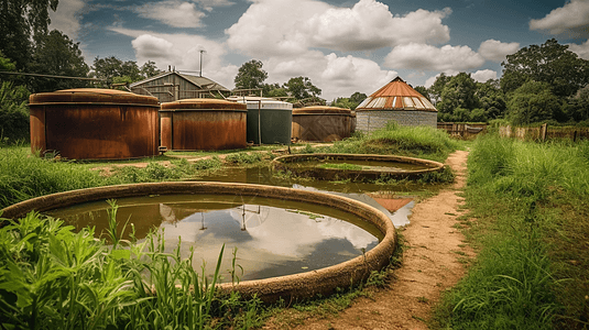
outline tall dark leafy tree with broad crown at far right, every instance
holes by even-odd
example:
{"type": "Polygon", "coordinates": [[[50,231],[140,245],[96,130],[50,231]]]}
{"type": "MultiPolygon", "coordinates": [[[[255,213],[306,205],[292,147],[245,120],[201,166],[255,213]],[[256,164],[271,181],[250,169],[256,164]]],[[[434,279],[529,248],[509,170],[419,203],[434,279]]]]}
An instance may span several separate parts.
{"type": "Polygon", "coordinates": [[[548,84],[557,97],[568,97],[589,82],[589,62],[578,58],[567,45],[560,45],[555,38],[539,46],[523,47],[508,55],[501,65],[501,88],[504,92],[512,92],[526,81],[534,80],[548,84]]]}

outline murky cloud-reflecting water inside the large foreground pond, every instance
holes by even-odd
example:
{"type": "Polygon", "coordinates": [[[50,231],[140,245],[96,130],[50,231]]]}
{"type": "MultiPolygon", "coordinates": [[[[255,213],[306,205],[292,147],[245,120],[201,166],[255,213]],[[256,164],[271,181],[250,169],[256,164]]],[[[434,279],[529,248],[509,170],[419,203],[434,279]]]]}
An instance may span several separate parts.
{"type": "MultiPolygon", "coordinates": [[[[194,264],[203,261],[212,273],[219,250],[226,244],[221,271],[227,280],[231,251],[238,248],[237,263],[244,270],[241,279],[259,279],[296,274],[335,265],[369,251],[379,243],[379,231],[356,216],[327,207],[280,199],[175,195],[124,198],[120,228],[129,219],[138,238],[149,230],[164,230],[166,251],[182,238],[182,255],[195,249],[194,264]]],[[[54,210],[53,217],[77,228],[108,226],[106,201],[54,210]]],[[[129,231],[129,229],[128,229],[129,231]]]]}

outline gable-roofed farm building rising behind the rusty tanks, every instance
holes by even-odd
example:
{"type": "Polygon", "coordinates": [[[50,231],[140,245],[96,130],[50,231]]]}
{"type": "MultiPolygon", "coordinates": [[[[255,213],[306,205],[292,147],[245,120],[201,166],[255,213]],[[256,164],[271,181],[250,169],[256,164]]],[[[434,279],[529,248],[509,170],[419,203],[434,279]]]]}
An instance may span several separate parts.
{"type": "Polygon", "coordinates": [[[129,85],[132,92],[156,97],[160,102],[212,98],[230,90],[209,78],[166,72],[129,85]]]}

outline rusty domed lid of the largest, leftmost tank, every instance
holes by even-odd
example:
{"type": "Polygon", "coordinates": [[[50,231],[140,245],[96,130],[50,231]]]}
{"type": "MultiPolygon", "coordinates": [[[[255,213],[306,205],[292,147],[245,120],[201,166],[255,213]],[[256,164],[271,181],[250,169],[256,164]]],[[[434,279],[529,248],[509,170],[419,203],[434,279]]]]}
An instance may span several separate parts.
{"type": "Polygon", "coordinates": [[[119,103],[159,106],[156,97],[117,89],[74,88],[54,92],[39,92],[29,97],[30,106],[43,103],[119,103]]]}

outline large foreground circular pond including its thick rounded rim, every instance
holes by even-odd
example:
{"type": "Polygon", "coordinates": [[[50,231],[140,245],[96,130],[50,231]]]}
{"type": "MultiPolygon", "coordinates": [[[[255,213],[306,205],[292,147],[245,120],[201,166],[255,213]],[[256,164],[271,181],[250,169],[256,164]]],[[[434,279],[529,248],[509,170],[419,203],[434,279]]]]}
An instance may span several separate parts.
{"type": "MultiPolygon", "coordinates": [[[[276,276],[219,286],[226,292],[238,290],[246,298],[257,295],[264,301],[276,301],[281,298],[291,300],[329,295],[338,287],[349,287],[368,278],[372,271],[381,270],[389,263],[395,249],[393,223],[384,213],[368,205],[341,196],[261,185],[156,183],[80,189],[19,202],[3,209],[2,216],[18,219],[32,210],[75,209],[78,207],[76,205],[91,201],[101,204],[106,199],[118,199],[121,205],[140,204],[140,208],[143,208],[143,202],[127,199],[141,196],[157,197],[146,198],[154,201],[148,204],[146,208],[153,209],[155,219],[141,215],[135,221],[131,216],[130,222],[134,223],[138,232],[145,230],[139,229],[139,224],[146,223],[145,228],[164,227],[166,237],[179,235],[183,241],[216,237],[220,239],[218,242],[246,242],[242,248],[238,246],[238,263],[246,271],[248,265],[261,265],[251,275],[276,276]],[[182,200],[195,196],[199,196],[196,204],[194,199],[182,200]],[[179,205],[172,202],[178,199],[179,205]],[[281,206],[281,202],[284,205],[281,206]],[[275,217],[279,219],[274,220],[275,217]],[[350,223],[338,227],[343,222],[350,223]],[[275,228],[271,231],[272,227],[275,228]],[[303,230],[303,227],[309,229],[303,230]],[[276,255],[286,258],[279,261],[276,255]],[[341,256],[347,261],[338,263],[331,260],[341,256]],[[310,260],[314,261],[313,265],[310,260]],[[282,275],[272,274],[277,271],[268,271],[272,263],[277,264],[274,268],[282,275]],[[304,272],[294,274],[295,270],[304,272]],[[265,275],[262,275],[264,272],[265,275]]],[[[126,207],[120,209],[119,216],[126,221],[127,211],[123,209],[126,207]]],[[[195,246],[203,249],[203,255],[218,256],[220,250],[220,245],[195,246]]],[[[173,248],[170,244],[168,249],[173,248]]],[[[226,253],[226,258],[230,257],[226,253]]],[[[227,268],[223,266],[222,270],[227,268]]]]}

